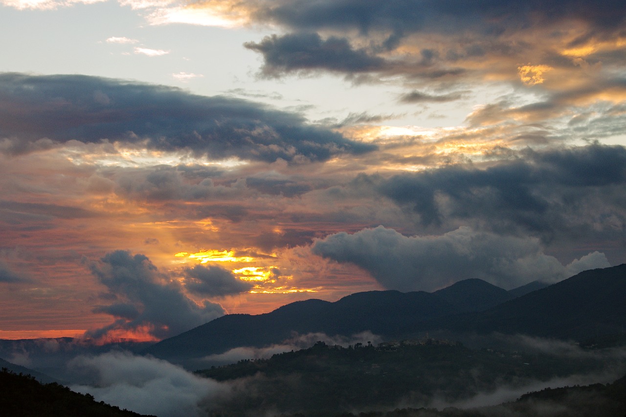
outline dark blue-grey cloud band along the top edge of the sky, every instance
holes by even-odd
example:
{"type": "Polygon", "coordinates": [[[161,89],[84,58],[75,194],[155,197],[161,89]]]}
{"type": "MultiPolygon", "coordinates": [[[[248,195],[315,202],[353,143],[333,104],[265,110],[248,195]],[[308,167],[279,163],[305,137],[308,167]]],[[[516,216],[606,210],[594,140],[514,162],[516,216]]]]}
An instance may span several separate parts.
{"type": "Polygon", "coordinates": [[[292,29],[357,29],[361,33],[391,31],[387,44],[417,31],[449,32],[474,28],[486,34],[528,27],[533,21],[550,23],[579,19],[598,31],[623,23],[623,2],[609,0],[278,0],[257,2],[257,18],[292,29]]]}

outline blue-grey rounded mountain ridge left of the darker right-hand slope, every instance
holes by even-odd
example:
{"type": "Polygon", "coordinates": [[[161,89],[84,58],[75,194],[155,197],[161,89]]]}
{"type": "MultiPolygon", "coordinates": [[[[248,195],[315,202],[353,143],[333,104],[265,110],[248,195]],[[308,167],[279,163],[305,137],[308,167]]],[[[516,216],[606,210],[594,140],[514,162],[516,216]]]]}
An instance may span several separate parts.
{"type": "Polygon", "coordinates": [[[294,333],[350,336],[371,331],[394,337],[406,326],[416,327],[450,314],[480,311],[508,299],[511,299],[508,292],[480,279],[460,281],[433,293],[367,291],[336,302],[309,299],[255,316],[228,314],[158,342],[144,353],[180,362],[239,346],[280,343],[294,333]]]}

